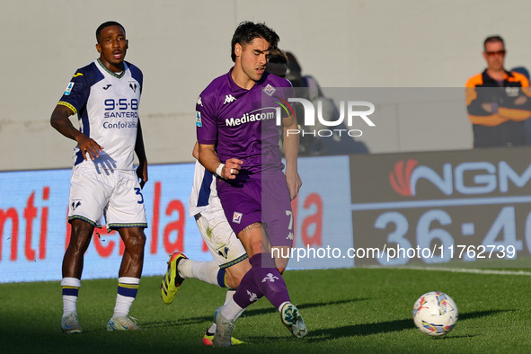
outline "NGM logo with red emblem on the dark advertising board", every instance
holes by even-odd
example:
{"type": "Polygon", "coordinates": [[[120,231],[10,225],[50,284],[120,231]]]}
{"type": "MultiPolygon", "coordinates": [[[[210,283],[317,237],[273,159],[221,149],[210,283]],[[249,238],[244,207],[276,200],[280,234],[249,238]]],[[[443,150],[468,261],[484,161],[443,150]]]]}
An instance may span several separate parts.
{"type": "Polygon", "coordinates": [[[531,164],[523,173],[516,172],[508,162],[486,161],[443,164],[442,173],[429,166],[419,165],[415,159],[399,161],[389,173],[389,183],[394,191],[404,197],[417,195],[417,185],[427,181],[447,196],[487,194],[495,191],[509,192],[509,187],[528,187],[531,184],[531,164]]]}

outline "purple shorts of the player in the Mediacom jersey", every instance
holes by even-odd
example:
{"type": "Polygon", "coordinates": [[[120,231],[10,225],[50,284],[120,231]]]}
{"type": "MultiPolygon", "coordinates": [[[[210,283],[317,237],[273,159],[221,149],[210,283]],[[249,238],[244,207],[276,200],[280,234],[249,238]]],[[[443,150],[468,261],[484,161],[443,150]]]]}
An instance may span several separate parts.
{"type": "Polygon", "coordinates": [[[218,180],[217,195],[236,235],[247,226],[261,223],[271,246],[293,246],[293,213],[285,178],[247,180],[237,186],[218,180]]]}

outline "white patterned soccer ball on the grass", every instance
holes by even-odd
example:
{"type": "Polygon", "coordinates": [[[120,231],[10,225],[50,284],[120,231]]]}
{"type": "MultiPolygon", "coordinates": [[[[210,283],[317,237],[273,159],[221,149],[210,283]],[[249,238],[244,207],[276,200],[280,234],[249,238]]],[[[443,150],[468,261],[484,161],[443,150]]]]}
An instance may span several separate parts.
{"type": "Polygon", "coordinates": [[[441,336],[452,331],[459,312],[450,296],[431,291],[420,296],[413,305],[413,322],[422,333],[441,336]]]}

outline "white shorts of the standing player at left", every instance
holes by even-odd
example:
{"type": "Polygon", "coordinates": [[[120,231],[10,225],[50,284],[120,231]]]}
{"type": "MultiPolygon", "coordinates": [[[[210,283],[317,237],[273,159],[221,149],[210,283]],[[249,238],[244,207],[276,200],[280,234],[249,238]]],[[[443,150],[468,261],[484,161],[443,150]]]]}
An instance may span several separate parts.
{"type": "Polygon", "coordinates": [[[120,227],[147,227],[144,197],[134,171],[96,173],[77,168],[70,179],[68,221],[82,219],[108,230],[120,227]]]}

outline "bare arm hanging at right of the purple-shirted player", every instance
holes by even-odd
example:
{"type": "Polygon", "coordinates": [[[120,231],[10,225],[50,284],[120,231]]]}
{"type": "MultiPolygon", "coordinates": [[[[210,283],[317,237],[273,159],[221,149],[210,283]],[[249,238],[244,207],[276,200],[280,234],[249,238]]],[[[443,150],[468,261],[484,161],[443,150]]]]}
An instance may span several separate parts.
{"type": "Polygon", "coordinates": [[[298,190],[303,182],[298,174],[296,157],[298,155],[298,134],[288,134],[288,130],[295,130],[296,118],[289,116],[283,119],[284,126],[284,155],[286,155],[286,182],[288,183],[289,198],[296,199],[298,190]]]}

